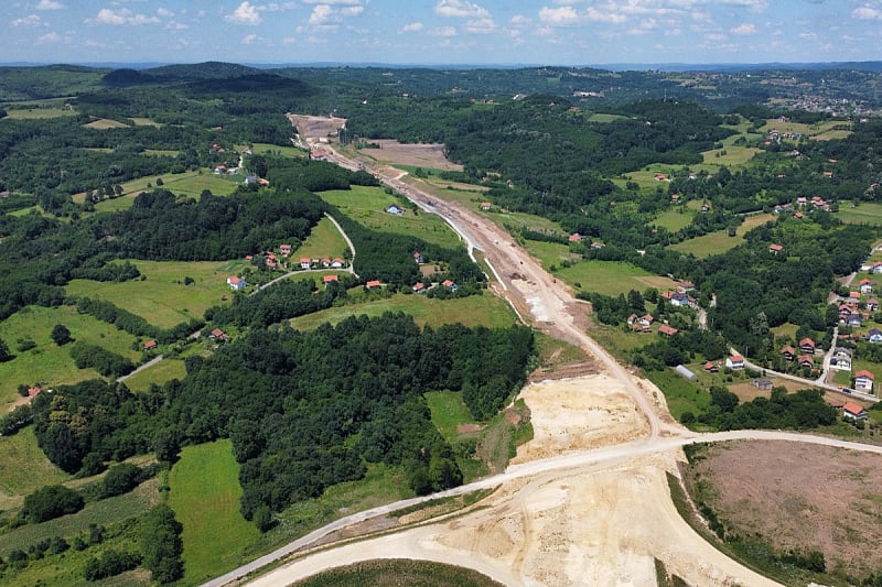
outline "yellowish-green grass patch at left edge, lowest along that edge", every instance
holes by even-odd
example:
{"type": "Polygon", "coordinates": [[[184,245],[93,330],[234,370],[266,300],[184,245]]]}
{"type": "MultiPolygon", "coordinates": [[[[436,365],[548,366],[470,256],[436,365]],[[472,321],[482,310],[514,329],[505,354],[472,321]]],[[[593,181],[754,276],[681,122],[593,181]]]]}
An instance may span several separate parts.
{"type": "Polygon", "coordinates": [[[69,478],[36,445],[33,426],[0,436],[0,510],[18,508],[28,493],[69,478]]]}

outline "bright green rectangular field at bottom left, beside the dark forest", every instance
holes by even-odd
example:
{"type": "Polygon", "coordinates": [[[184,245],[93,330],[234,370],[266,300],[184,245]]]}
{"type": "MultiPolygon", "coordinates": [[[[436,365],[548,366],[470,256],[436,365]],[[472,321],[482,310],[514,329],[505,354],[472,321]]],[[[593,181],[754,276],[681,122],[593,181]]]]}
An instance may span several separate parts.
{"type": "Polygon", "coordinates": [[[260,531],[239,513],[239,465],[229,441],[187,446],[171,470],[169,504],[184,526],[184,583],[235,568],[260,531]]]}

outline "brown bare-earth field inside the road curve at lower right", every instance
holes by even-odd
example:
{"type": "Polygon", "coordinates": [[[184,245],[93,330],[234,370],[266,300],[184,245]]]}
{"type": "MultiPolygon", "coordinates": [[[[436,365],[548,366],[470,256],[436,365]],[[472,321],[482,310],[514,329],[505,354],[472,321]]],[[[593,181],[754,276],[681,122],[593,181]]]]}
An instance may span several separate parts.
{"type": "Polygon", "coordinates": [[[733,442],[701,456],[688,485],[700,478],[706,502],[730,531],[760,534],[778,551],[820,551],[828,569],[857,577],[882,568],[882,455],[733,442]]]}

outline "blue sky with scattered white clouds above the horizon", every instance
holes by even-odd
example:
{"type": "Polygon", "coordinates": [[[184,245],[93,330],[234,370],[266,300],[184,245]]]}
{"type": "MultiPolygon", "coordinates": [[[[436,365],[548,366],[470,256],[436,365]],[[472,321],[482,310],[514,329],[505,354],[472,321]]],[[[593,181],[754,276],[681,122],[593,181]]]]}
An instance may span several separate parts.
{"type": "Polygon", "coordinates": [[[4,63],[592,65],[882,58],[882,0],[7,2],[4,63]]]}

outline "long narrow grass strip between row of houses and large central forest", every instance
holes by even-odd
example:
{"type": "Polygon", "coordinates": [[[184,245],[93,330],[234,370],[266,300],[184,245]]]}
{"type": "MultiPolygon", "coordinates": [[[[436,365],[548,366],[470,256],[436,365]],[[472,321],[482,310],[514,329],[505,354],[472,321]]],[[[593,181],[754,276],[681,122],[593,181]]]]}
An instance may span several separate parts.
{"type": "Polygon", "coordinates": [[[325,322],[336,324],[349,316],[365,314],[375,317],[386,312],[404,312],[413,316],[413,320],[420,326],[461,323],[466,326],[483,325],[494,328],[510,326],[517,320],[508,305],[490,293],[454,300],[431,300],[424,295],[397,294],[388,300],[331,307],[294,318],[291,325],[302,330],[311,330],[325,322]]]}

